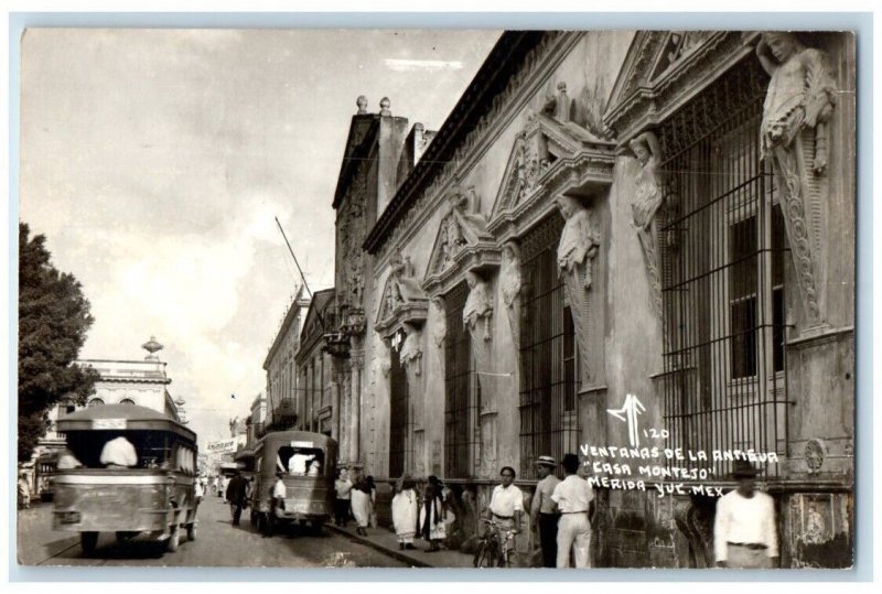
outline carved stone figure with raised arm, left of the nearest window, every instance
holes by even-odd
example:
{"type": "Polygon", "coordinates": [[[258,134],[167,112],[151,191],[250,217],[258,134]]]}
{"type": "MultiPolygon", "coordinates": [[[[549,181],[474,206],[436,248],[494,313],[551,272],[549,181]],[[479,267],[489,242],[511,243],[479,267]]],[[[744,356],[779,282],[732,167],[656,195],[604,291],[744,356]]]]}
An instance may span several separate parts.
{"type": "Polygon", "coordinates": [[[630,144],[641,162],[641,171],[636,179],[637,191],[631,204],[631,213],[634,229],[643,248],[653,310],[658,317],[662,317],[662,278],[656,246],[658,234],[656,214],[664,201],[662,174],[658,171],[662,145],[653,132],[642,133],[630,144]]]}

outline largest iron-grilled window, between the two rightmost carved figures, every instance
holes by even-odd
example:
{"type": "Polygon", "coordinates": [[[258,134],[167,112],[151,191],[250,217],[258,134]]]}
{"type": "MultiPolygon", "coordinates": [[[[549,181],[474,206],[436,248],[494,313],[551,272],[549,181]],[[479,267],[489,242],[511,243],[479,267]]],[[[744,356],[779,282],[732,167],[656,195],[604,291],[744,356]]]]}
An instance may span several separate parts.
{"type": "MultiPolygon", "coordinates": [[[[784,266],[776,188],[760,159],[767,77],[747,58],[659,132],[669,446],[785,453],[784,266]]],[[[701,463],[704,464],[704,463],[701,463]]],[[[729,463],[707,463],[717,476],[729,463]]]]}

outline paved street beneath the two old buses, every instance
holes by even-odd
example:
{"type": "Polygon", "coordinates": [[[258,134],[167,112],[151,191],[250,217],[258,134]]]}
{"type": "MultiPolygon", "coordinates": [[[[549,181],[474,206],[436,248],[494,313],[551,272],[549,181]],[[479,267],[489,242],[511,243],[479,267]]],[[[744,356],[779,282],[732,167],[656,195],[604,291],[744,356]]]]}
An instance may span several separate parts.
{"type": "Polygon", "coordinates": [[[95,555],[86,558],[79,536],[52,530],[52,505],[19,510],[19,563],[25,565],[136,565],[136,566],[277,566],[277,568],[404,568],[405,563],[354,542],[327,528],[321,536],[297,528],[262,538],[243,512],[232,525],[229,506],[206,497],[198,510],[196,540],[181,541],[176,552],[143,537],[119,543],[101,533],[95,555]]]}

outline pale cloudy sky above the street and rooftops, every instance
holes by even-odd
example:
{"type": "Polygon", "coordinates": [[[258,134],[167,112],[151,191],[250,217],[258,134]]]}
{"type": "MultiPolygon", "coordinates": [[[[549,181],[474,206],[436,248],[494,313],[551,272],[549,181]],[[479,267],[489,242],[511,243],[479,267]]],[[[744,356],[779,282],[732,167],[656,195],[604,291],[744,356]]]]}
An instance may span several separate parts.
{"type": "Polygon", "coordinates": [[[357,96],[438,129],[497,39],[29,30],[20,216],[92,302],[82,357],[140,359],[155,335],[200,441],[228,436],[300,284],[273,216],[311,289],[331,287],[357,96]]]}

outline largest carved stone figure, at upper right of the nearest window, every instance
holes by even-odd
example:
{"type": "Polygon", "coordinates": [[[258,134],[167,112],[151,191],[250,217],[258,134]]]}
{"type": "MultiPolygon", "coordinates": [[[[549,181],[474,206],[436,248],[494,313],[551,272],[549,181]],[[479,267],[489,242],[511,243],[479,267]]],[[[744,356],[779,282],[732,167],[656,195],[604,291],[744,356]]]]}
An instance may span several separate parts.
{"type": "Polygon", "coordinates": [[[790,33],[764,33],[756,56],[772,77],[760,127],[761,152],[771,161],[784,198],[787,236],[809,323],[820,325],[819,236],[827,188],[819,180],[827,174],[836,86],[826,55],[807,48],[790,33]]]}

